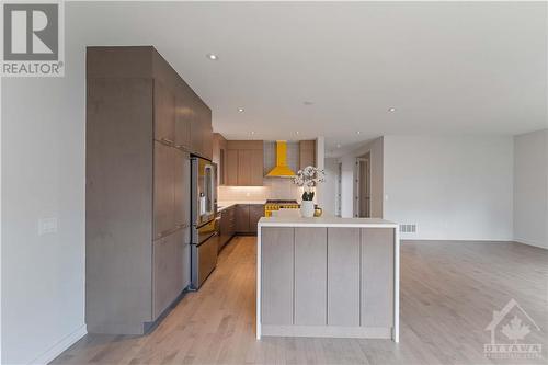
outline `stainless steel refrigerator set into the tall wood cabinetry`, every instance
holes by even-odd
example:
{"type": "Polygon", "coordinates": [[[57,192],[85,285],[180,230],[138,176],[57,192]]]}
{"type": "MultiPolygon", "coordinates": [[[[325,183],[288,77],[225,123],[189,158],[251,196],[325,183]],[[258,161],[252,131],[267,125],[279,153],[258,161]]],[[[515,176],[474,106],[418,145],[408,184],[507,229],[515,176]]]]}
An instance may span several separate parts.
{"type": "Polygon", "coordinates": [[[217,265],[217,166],[192,157],[191,288],[198,289],[217,265]]]}

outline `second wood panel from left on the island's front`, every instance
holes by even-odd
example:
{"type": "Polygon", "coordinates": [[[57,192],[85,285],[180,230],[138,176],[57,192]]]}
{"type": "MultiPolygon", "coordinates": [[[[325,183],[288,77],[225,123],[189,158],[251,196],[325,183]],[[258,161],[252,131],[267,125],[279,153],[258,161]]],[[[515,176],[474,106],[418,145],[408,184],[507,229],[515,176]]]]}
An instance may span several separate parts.
{"type": "Polygon", "coordinates": [[[327,228],[295,228],[295,324],[327,324],[327,228]]]}

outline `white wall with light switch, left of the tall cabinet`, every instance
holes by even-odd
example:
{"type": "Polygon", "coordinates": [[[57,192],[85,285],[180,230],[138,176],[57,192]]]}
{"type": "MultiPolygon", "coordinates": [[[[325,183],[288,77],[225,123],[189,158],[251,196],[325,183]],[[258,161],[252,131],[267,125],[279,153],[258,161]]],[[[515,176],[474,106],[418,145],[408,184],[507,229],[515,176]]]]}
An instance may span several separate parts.
{"type": "Polygon", "coordinates": [[[85,333],[84,48],[65,78],[2,80],[1,363],[44,363],[85,333]],[[57,233],[38,236],[39,218],[57,233]]]}

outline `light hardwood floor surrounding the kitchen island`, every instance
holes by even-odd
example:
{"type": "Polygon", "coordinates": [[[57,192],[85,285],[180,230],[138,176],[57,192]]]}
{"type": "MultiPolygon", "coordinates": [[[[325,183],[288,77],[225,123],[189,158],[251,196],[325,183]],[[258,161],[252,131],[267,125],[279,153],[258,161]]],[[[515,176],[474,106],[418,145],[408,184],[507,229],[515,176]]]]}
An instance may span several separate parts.
{"type": "MultiPolygon", "coordinates": [[[[518,243],[402,242],[401,338],[254,338],[255,238],[225,248],[217,270],[145,337],[87,335],[53,364],[546,364],[548,251],[518,243]],[[490,360],[484,328],[516,299],[540,327],[543,358],[490,360]]],[[[525,320],[525,318],[522,316],[525,320]]],[[[498,339],[504,335],[498,332],[498,339]]],[[[498,341],[504,342],[504,341],[498,341]]],[[[506,339],[507,342],[507,339],[506,339]]]]}

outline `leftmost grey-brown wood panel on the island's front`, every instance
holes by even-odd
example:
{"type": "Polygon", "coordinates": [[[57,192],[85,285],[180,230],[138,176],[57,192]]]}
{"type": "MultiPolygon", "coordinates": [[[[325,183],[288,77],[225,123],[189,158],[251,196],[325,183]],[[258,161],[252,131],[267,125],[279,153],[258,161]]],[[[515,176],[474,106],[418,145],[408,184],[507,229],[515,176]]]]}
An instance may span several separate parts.
{"type": "Polygon", "coordinates": [[[294,228],[261,231],[261,323],[294,324],[294,228]]]}

